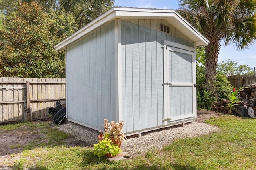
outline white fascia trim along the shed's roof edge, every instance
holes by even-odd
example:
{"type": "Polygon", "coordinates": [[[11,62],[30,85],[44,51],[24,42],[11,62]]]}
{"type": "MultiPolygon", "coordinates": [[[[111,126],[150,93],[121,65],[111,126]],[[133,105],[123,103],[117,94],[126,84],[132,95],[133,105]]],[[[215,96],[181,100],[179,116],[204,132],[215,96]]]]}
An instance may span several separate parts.
{"type": "Polygon", "coordinates": [[[148,9],[148,8],[127,8],[127,7],[113,7],[92,22],[88,23],[86,26],[81,28],[80,30],[76,31],[74,34],[69,36],[68,38],[62,40],[60,43],[54,46],[54,49],[56,51],[58,50],[64,50],[65,47],[75,40],[78,40],[82,36],[88,34],[89,32],[92,32],[95,30],[95,28],[98,28],[105,24],[108,21],[114,20],[116,18],[121,18],[124,16],[131,16],[131,17],[174,17],[176,20],[182,21],[181,24],[183,24],[186,29],[190,30],[195,34],[196,37],[198,37],[195,42],[202,41],[196,45],[196,47],[199,46],[205,46],[208,45],[209,40],[207,40],[196,28],[194,28],[187,20],[185,20],[180,14],[178,14],[175,10],[164,10],[164,9],[148,9]],[[163,15],[164,13],[164,15],[163,15]],[[178,17],[178,18],[177,18],[178,17]]]}

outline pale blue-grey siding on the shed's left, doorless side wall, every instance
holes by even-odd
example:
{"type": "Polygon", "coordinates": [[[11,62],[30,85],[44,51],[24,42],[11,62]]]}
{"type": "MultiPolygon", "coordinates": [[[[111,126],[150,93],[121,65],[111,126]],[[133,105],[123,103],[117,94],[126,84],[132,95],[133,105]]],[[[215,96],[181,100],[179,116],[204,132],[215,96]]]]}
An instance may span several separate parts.
{"type": "Polygon", "coordinates": [[[67,47],[68,119],[92,128],[115,120],[114,49],[114,22],[67,47]]]}

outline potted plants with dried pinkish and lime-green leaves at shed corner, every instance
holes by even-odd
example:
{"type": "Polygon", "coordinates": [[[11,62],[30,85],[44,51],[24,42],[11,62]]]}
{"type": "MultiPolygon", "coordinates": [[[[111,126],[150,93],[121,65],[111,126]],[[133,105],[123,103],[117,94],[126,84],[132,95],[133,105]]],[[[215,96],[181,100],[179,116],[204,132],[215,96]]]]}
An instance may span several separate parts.
{"type": "Polygon", "coordinates": [[[120,149],[122,140],[126,142],[127,139],[124,130],[122,130],[123,122],[115,123],[111,121],[111,123],[108,123],[108,119],[104,119],[104,132],[100,130],[101,133],[98,135],[99,142],[94,144],[95,155],[98,157],[104,155],[114,157],[122,152],[120,149]]]}

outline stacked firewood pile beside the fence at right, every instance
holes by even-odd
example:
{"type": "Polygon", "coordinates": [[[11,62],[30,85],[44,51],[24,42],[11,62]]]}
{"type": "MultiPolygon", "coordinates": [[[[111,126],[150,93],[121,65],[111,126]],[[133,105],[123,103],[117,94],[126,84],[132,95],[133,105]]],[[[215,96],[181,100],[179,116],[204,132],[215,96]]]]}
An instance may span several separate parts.
{"type": "MultiPolygon", "coordinates": [[[[244,87],[244,89],[242,89],[240,91],[240,93],[238,93],[238,95],[239,95],[241,104],[247,105],[247,101],[250,99],[252,99],[256,102],[256,83],[251,84],[248,87],[244,87]]],[[[229,113],[229,107],[228,107],[229,103],[230,102],[227,100],[218,101],[211,105],[211,109],[212,109],[212,111],[228,114],[229,113]]],[[[256,105],[253,107],[253,110],[254,110],[254,113],[256,113],[256,105]]]]}

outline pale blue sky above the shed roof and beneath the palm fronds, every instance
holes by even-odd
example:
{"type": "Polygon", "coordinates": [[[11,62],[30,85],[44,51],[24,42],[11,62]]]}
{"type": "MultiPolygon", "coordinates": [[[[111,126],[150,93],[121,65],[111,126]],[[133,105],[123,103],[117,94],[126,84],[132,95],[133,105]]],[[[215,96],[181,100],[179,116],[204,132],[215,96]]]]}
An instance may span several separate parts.
{"type": "MultiPolygon", "coordinates": [[[[176,10],[179,8],[178,0],[115,0],[115,6],[121,7],[138,7],[138,8],[158,8],[176,10]]],[[[220,54],[218,56],[218,63],[223,60],[231,59],[237,62],[238,65],[247,65],[254,70],[256,67],[256,41],[249,49],[237,51],[236,48],[230,44],[224,47],[222,44],[220,54]]]]}

